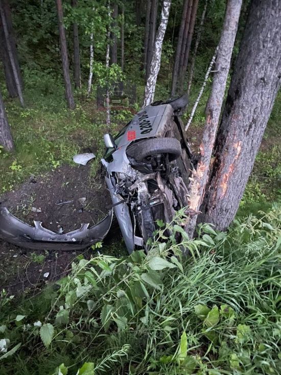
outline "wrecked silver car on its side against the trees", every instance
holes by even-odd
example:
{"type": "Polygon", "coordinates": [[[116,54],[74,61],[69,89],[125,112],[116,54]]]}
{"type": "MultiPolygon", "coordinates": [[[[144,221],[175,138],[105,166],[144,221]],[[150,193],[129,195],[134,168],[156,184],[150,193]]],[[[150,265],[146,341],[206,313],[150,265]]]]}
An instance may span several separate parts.
{"type": "Polygon", "coordinates": [[[171,222],[188,204],[192,154],[179,119],[188,98],[139,111],[118,136],[105,134],[102,159],[115,216],[129,252],[147,250],[157,220],[171,222]]]}

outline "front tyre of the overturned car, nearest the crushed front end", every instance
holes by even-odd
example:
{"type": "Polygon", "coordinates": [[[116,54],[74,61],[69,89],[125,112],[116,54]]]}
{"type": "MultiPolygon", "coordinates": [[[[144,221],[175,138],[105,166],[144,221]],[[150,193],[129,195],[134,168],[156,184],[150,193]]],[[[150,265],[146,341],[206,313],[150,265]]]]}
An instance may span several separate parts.
{"type": "Polygon", "coordinates": [[[136,161],[144,161],[156,154],[169,154],[169,160],[172,161],[181,155],[181,145],[175,138],[150,138],[132,145],[128,154],[136,161]]]}

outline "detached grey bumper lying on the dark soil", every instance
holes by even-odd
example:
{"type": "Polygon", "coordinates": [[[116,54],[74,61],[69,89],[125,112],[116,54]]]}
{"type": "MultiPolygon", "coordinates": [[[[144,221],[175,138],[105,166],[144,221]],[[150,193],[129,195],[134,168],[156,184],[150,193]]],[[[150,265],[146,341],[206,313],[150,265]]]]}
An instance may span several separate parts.
{"type": "Polygon", "coordinates": [[[81,250],[102,241],[107,235],[113,217],[113,209],[99,224],[88,228],[82,224],[80,229],[61,234],[43,228],[41,222],[28,225],[0,207],[0,238],[17,246],[38,250],[81,250]]]}

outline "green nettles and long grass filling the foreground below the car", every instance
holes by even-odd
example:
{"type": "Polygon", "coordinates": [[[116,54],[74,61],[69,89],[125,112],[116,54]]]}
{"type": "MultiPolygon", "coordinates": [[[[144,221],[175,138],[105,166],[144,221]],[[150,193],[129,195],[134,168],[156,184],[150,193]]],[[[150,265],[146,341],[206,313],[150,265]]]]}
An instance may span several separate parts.
{"type": "Polygon", "coordinates": [[[43,291],[40,313],[1,322],[0,360],[37,347],[40,366],[42,352],[67,353],[56,375],[278,374],[280,214],[276,206],[227,233],[204,224],[191,241],[182,210],[173,225],[158,222],[147,255],[80,257],[43,291]]]}

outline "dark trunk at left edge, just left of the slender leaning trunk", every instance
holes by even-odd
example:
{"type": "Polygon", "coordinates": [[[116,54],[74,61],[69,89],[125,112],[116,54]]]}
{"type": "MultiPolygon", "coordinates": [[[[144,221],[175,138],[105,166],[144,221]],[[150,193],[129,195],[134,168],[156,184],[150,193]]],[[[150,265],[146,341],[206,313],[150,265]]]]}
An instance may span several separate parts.
{"type": "Polygon", "coordinates": [[[0,19],[0,45],[2,46],[2,48],[0,49],[0,55],[1,55],[1,60],[3,62],[7,90],[11,98],[16,98],[18,96],[17,88],[16,88],[16,84],[14,80],[12,65],[10,63],[7,45],[5,42],[5,36],[4,36],[1,19],[0,19]]]}

